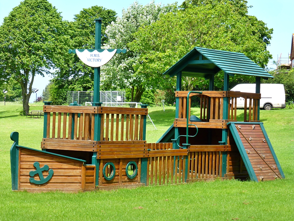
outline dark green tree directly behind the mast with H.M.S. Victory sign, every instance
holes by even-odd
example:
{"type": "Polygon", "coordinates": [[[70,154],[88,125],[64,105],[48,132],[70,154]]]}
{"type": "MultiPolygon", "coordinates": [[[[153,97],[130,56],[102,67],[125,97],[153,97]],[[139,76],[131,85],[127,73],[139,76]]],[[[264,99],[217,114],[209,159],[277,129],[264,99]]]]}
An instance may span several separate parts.
{"type": "MultiPolygon", "coordinates": [[[[108,42],[105,34],[106,27],[116,20],[116,12],[101,6],[92,6],[83,9],[74,16],[74,22],[68,22],[69,48],[91,49],[95,48],[95,21],[102,18],[101,43],[108,42]]],[[[76,55],[64,56],[64,67],[55,72],[52,80],[53,86],[50,92],[51,101],[54,105],[66,103],[67,91],[93,90],[94,69],[85,65],[76,55]]]]}

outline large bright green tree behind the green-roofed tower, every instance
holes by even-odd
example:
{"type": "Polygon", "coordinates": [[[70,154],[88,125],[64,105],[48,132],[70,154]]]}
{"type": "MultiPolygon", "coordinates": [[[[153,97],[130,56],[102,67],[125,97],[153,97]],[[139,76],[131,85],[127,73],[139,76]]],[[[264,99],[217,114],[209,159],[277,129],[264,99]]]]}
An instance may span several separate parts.
{"type": "MultiPolygon", "coordinates": [[[[247,14],[246,1],[193,2],[185,2],[185,7],[177,12],[161,15],[158,21],[139,28],[134,34],[129,46],[141,53],[134,67],[136,75],[159,78],[196,46],[242,52],[261,67],[267,65],[271,55],[266,47],[273,29],[247,14]]],[[[230,78],[231,84],[240,81],[252,82],[253,78],[245,75],[230,78]]],[[[202,78],[187,77],[183,83],[186,90],[208,89],[208,81],[202,78]]],[[[222,87],[223,73],[220,73],[215,88],[222,87]]]]}

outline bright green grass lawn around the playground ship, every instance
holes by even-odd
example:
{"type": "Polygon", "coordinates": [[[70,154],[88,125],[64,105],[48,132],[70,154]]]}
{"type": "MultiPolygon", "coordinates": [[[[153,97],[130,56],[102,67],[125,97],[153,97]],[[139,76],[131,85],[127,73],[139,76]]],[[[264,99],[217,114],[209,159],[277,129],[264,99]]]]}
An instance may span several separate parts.
{"type": "MultiPolygon", "coordinates": [[[[140,187],[78,194],[11,191],[10,133],[19,144],[40,149],[43,118],[18,116],[22,105],[0,102],[0,220],[293,220],[294,110],[260,111],[285,179],[238,180],[140,187]]],[[[30,110],[42,110],[31,104],[30,110]]],[[[171,126],[175,108],[149,108],[156,125],[147,124],[147,142],[171,126]]],[[[193,114],[199,109],[194,108],[193,114]]],[[[243,118],[238,110],[238,119],[243,118]]]]}

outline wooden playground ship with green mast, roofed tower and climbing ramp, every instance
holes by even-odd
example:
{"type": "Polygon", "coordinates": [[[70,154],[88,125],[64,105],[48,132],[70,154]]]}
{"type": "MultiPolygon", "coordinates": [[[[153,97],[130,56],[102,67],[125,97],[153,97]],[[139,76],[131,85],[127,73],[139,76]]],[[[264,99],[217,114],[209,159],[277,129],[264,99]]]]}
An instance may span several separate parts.
{"type": "MultiPolygon", "coordinates": [[[[96,27],[99,31],[100,19],[96,27]]],[[[13,190],[78,192],[233,177],[256,182],[284,178],[259,121],[260,79],[272,76],[244,54],[195,47],[164,73],[177,78],[176,116],[156,143],[146,142],[147,105],[101,106],[100,69],[94,70],[92,106],[44,102],[42,151],[19,146],[18,132],[11,133],[13,190]],[[214,91],[220,71],[224,89],[214,91]],[[256,93],[229,91],[229,77],[235,74],[254,76],[256,93]],[[182,76],[209,79],[209,90],[182,91],[182,76]],[[191,96],[201,100],[199,118],[191,116],[191,96]],[[243,121],[237,121],[240,97],[243,121]]]]}

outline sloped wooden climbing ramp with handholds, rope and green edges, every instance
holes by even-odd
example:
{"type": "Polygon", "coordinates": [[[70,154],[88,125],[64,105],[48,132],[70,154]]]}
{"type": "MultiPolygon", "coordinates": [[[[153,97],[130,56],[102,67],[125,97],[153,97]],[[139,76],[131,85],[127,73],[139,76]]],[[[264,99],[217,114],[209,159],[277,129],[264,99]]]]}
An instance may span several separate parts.
{"type": "Polygon", "coordinates": [[[258,182],[285,178],[263,123],[229,122],[227,125],[251,180],[258,182]]]}

